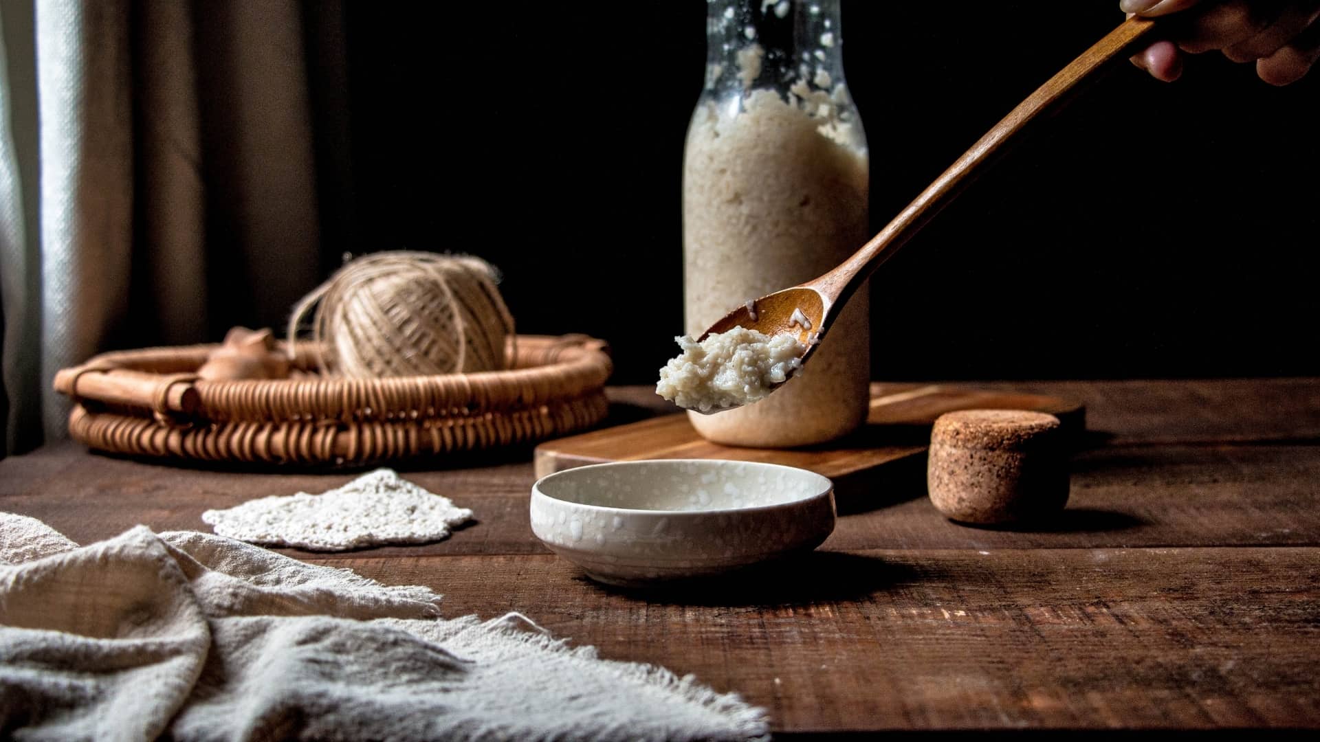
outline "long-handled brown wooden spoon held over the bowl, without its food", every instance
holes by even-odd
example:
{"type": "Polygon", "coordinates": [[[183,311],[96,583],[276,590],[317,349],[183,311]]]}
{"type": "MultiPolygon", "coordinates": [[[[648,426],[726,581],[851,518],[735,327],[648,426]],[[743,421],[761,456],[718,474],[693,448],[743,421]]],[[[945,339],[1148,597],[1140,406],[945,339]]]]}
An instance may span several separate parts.
{"type": "Polygon", "coordinates": [[[729,331],[738,325],[767,335],[791,333],[807,343],[807,351],[801,356],[803,363],[805,363],[816,351],[810,335],[817,334],[817,339],[825,335],[843,304],[880,263],[892,257],[912,235],[921,231],[927,222],[957,198],[975,176],[989,169],[994,156],[1002,154],[1007,151],[1007,145],[1018,141],[1027,124],[1047,112],[1056,111],[1064,103],[1068,92],[1073,91],[1082,81],[1092,78],[1109,61],[1131,55],[1142,45],[1142,41],[1147,40],[1154,26],[1154,21],[1140,17],[1123,21],[1122,25],[1019,103],[1002,121],[973,144],[972,149],[968,149],[948,170],[927,186],[907,209],[840,267],[816,280],[758,298],[754,310],[748,306],[739,306],[711,325],[697,339],[705,339],[713,333],[729,331]],[[799,312],[801,314],[795,317],[799,312]],[[801,322],[803,316],[805,316],[807,322],[801,322]]]}

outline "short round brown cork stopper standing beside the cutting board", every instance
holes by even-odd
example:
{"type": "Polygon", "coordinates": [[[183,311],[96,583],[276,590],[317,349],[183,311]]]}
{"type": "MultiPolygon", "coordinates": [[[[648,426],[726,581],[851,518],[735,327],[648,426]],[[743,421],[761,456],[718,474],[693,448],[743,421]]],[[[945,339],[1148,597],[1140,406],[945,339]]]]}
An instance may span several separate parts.
{"type": "Polygon", "coordinates": [[[995,524],[1048,516],[1068,502],[1059,419],[1018,409],[965,409],[935,421],[931,502],[948,518],[995,524]]]}

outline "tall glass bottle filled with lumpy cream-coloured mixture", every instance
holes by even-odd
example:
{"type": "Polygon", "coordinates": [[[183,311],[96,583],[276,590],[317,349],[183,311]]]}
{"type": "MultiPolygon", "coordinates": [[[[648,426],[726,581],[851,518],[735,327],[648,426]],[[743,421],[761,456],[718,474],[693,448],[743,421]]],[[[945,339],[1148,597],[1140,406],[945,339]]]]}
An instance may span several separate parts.
{"type": "MultiPolygon", "coordinates": [[[[843,79],[838,0],[708,0],[706,84],[682,170],[685,331],[814,279],[870,236],[867,148],[843,79]]],[[[803,375],[755,404],[700,415],[743,446],[837,438],[866,419],[870,306],[850,300],[803,375]]]]}

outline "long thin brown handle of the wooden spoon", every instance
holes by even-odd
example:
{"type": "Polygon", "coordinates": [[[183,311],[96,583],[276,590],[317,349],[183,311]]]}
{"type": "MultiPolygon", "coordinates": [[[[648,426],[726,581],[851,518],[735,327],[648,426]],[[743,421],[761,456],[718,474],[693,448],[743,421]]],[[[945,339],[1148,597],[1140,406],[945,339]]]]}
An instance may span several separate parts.
{"type": "MultiPolygon", "coordinates": [[[[816,279],[807,287],[814,288],[829,297],[832,306],[842,302],[866,281],[867,277],[888,260],[903,244],[927,224],[941,209],[949,205],[975,176],[983,173],[995,154],[1007,152],[1007,147],[1020,140],[1019,133],[1032,120],[1043,114],[1053,112],[1068,98],[1078,83],[1092,78],[1093,73],[1114,58],[1129,57],[1143,41],[1148,42],[1155,21],[1131,17],[1109,32],[1094,46],[1073,59],[1067,67],[1049,78],[1016,108],[1008,112],[998,124],[982,136],[972,149],[935,180],[912,203],[880,230],[870,242],[862,246],[838,268],[816,279]]],[[[830,312],[833,314],[833,312],[830,312]]]]}

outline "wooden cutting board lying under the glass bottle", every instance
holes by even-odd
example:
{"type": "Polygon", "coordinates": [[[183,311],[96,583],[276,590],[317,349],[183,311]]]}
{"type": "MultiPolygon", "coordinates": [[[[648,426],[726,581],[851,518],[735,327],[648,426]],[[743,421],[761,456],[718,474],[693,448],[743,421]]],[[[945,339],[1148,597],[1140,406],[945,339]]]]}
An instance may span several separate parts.
{"type": "MultiPolygon", "coordinates": [[[[1082,405],[1051,396],[975,391],[939,384],[871,384],[871,412],[855,433],[801,449],[750,449],[711,444],[693,429],[686,415],[665,415],[546,441],[536,446],[536,475],[564,469],[639,458],[733,458],[808,469],[843,489],[853,475],[890,469],[924,477],[925,449],[935,419],[954,409],[1031,409],[1059,417],[1071,433],[1085,428],[1082,405]],[[906,465],[906,466],[903,466],[906,465]]],[[[873,478],[874,479],[874,478],[873,478]]],[[[874,485],[874,481],[871,482],[874,485]]]]}

